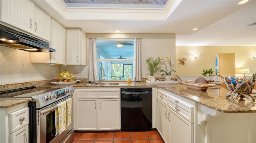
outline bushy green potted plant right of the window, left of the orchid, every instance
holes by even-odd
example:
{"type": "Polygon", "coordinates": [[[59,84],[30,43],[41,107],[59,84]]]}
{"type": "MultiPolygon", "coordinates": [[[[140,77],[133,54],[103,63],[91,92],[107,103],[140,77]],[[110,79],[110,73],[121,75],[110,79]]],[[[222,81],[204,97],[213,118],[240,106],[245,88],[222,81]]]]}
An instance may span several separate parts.
{"type": "Polygon", "coordinates": [[[146,60],[146,64],[148,65],[148,70],[150,73],[150,76],[153,76],[156,71],[160,70],[159,64],[161,62],[161,59],[159,57],[156,58],[156,60],[152,57],[149,57],[146,60]]]}

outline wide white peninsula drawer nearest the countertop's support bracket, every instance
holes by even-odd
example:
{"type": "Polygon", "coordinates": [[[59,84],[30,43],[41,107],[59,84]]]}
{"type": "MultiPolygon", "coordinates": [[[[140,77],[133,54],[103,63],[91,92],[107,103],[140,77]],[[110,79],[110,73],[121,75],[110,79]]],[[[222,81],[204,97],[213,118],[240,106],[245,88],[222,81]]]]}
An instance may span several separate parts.
{"type": "Polygon", "coordinates": [[[181,99],[175,99],[169,96],[168,106],[190,123],[194,122],[194,107],[192,105],[187,104],[181,99]]]}

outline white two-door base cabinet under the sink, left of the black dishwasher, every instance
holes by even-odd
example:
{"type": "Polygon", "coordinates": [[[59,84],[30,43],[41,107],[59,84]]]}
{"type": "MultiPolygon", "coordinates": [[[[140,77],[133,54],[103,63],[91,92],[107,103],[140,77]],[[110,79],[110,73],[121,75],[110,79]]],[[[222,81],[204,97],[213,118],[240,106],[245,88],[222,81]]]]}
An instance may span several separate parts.
{"type": "Polygon", "coordinates": [[[75,130],[120,129],[120,88],[75,89],[75,130]]]}

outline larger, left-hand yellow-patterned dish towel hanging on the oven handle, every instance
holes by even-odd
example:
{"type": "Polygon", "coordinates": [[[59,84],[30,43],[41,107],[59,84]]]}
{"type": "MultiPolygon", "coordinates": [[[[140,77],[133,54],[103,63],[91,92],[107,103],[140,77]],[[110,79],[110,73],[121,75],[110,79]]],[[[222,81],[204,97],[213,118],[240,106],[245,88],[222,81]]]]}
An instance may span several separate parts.
{"type": "Polygon", "coordinates": [[[66,101],[60,102],[57,105],[57,109],[55,109],[55,131],[56,135],[58,133],[62,133],[66,129],[66,120],[67,120],[67,114],[66,114],[66,101]]]}

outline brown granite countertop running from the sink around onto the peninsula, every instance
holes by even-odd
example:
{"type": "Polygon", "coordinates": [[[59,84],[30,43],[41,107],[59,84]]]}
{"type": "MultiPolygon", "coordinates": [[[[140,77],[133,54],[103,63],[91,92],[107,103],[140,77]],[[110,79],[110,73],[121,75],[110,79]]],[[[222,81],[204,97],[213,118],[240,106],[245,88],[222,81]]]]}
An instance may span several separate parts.
{"type": "MultiPolygon", "coordinates": [[[[178,84],[148,84],[146,82],[118,82],[119,85],[86,85],[86,83],[76,83],[72,85],[65,85],[62,87],[73,86],[78,87],[160,87],[181,97],[192,100],[198,104],[204,105],[206,107],[212,108],[214,110],[224,112],[224,113],[256,113],[256,103],[250,102],[247,99],[232,101],[225,98],[228,90],[224,87],[220,88],[208,88],[207,91],[197,91],[194,89],[189,89],[186,85],[182,83],[178,84]]],[[[42,87],[60,87],[60,85],[44,85],[42,87]]],[[[255,95],[255,94],[252,94],[255,95]]],[[[255,95],[256,96],[256,95],[255,95]]],[[[0,107],[2,108],[2,100],[0,100],[0,107]]]]}

